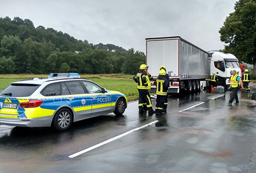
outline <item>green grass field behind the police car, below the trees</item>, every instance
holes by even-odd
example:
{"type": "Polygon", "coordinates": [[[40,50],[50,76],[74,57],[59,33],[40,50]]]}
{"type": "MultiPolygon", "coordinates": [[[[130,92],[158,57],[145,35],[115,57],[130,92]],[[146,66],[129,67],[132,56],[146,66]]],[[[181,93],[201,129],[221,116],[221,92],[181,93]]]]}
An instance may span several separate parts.
{"type": "MultiPolygon", "coordinates": [[[[124,93],[128,101],[139,98],[137,84],[132,80],[133,75],[107,74],[107,75],[80,75],[96,82],[107,90],[115,90],[124,93]]],[[[11,82],[31,79],[34,77],[47,78],[48,75],[0,75],[0,91],[9,86],[11,82]]]]}

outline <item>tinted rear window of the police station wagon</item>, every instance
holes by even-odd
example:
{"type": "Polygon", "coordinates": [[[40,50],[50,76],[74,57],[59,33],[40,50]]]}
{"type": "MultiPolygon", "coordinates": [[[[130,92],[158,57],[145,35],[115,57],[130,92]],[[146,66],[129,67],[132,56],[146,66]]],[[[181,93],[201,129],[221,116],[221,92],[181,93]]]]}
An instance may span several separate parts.
{"type": "Polygon", "coordinates": [[[38,87],[40,87],[40,85],[13,83],[5,88],[3,91],[1,91],[0,96],[28,97],[31,96],[38,87]]]}

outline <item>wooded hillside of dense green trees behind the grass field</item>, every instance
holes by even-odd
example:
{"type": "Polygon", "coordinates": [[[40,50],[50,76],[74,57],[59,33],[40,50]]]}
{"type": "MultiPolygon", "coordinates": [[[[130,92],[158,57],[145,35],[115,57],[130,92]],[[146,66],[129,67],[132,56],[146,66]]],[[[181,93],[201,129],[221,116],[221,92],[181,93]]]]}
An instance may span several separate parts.
{"type": "Polygon", "coordinates": [[[0,18],[0,73],[78,72],[135,74],[145,53],[112,44],[93,45],[29,19],[0,18]]]}

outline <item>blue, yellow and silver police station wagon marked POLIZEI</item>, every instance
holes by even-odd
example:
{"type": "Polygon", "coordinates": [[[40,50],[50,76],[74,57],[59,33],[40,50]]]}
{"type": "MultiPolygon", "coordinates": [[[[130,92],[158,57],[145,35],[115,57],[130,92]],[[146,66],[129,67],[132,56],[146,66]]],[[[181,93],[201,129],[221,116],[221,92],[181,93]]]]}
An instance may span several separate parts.
{"type": "Polygon", "coordinates": [[[127,98],[77,73],[51,73],[48,78],[13,82],[0,92],[0,125],[53,127],[114,112],[122,115],[127,98]]]}

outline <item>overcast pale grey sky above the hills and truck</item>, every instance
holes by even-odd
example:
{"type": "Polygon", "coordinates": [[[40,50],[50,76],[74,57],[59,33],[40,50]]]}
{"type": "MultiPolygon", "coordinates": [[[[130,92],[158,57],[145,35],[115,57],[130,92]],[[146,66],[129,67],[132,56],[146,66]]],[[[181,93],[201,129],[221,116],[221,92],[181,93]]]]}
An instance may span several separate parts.
{"type": "Polygon", "coordinates": [[[30,19],[94,45],[145,52],[145,38],[181,36],[220,50],[219,28],[237,0],[0,0],[0,17],[30,19]]]}

